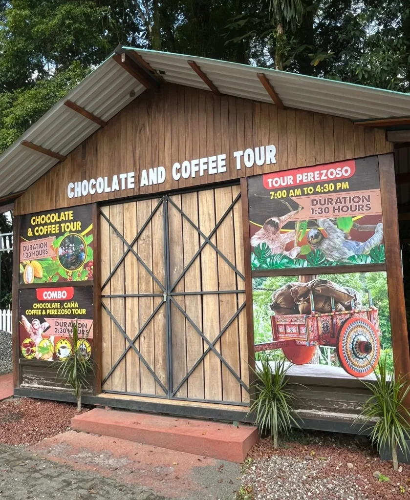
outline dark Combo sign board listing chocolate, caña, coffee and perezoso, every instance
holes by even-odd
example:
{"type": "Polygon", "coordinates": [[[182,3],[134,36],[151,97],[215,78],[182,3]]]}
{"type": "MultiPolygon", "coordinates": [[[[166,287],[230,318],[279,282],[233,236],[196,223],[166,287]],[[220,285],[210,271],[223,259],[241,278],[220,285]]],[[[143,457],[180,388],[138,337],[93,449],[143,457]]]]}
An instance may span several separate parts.
{"type": "Polygon", "coordinates": [[[19,292],[21,357],[65,360],[72,349],[72,322],[89,357],[93,341],[93,287],[30,288],[19,292]]]}

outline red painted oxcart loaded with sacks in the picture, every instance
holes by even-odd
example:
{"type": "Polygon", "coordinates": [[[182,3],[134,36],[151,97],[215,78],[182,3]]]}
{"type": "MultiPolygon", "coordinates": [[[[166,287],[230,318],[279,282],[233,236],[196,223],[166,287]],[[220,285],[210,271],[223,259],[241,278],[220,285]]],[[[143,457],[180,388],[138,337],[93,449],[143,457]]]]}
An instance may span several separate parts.
{"type": "Polygon", "coordinates": [[[300,365],[312,360],[317,346],[334,347],[347,373],[355,377],[369,375],[380,356],[381,334],[378,309],[373,305],[371,291],[367,293],[368,307],[362,307],[355,290],[341,289],[331,281],[316,279],[283,286],[273,294],[272,341],[256,344],[255,351],[281,348],[289,361],[300,365]],[[332,295],[324,298],[323,293],[332,295]],[[335,295],[339,302],[335,302],[335,295]],[[289,308],[283,305],[289,305],[290,296],[299,311],[310,309],[310,313],[284,314],[289,308]],[[346,302],[349,297],[350,302],[346,302]]]}

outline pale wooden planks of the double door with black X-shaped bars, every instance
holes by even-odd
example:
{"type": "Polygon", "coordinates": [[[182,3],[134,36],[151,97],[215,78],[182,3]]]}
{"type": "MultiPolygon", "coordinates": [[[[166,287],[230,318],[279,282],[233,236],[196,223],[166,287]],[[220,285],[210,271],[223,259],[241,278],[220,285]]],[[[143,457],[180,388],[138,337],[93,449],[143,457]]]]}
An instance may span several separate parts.
{"type": "MultiPolygon", "coordinates": [[[[170,199],[206,236],[211,233],[217,222],[223,220],[210,239],[224,257],[243,274],[241,200],[238,199],[232,206],[239,192],[240,186],[233,185],[177,194],[170,199]],[[229,207],[231,208],[228,211],[229,207]]],[[[104,215],[116,227],[114,230],[105,217],[100,217],[103,283],[116,268],[125,250],[118,233],[131,243],[158,201],[157,198],[144,199],[102,208],[104,215]]],[[[210,244],[205,244],[188,267],[204,243],[204,238],[171,202],[166,201],[166,203],[168,203],[170,283],[174,285],[184,269],[188,268],[178,284],[172,288],[172,300],[178,303],[180,309],[171,301],[172,377],[170,380],[167,375],[165,304],[159,308],[134,345],[162,384],[165,387],[170,384],[170,392],[175,392],[173,397],[246,403],[249,401],[249,394],[237,378],[248,385],[245,308],[237,313],[245,300],[244,281],[210,244]],[[186,292],[190,294],[185,294],[186,292]],[[215,343],[215,349],[237,377],[215,352],[209,349],[208,343],[181,310],[185,311],[210,342],[224,329],[215,343]],[[226,328],[227,324],[229,326],[226,328]],[[208,353],[198,363],[205,350],[208,350],[208,353]],[[192,372],[187,376],[190,370],[192,372]]],[[[162,204],[133,248],[157,280],[165,286],[163,210],[162,204]]],[[[135,338],[156,307],[163,301],[158,282],[131,251],[111,275],[102,290],[102,295],[104,304],[131,339],[135,338]],[[104,297],[115,294],[122,296],[104,297]],[[129,294],[146,295],[124,296],[129,294]]],[[[107,378],[103,391],[114,390],[157,397],[167,395],[142,357],[140,358],[133,348],[128,350],[119,363],[117,362],[129,343],[125,341],[118,325],[105,309],[101,313],[101,337],[102,377],[107,378]],[[109,373],[111,374],[107,377],[109,373]]]]}

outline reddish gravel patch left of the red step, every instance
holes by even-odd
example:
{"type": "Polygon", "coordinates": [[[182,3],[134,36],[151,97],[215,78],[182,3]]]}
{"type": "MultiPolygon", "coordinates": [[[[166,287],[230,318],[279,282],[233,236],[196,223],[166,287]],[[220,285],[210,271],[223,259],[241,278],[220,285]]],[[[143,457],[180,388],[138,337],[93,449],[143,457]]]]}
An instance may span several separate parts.
{"type": "MultiPolygon", "coordinates": [[[[83,411],[87,411],[84,409],[83,411]]],[[[0,443],[33,444],[70,428],[77,405],[30,399],[0,403],[0,443]]]]}

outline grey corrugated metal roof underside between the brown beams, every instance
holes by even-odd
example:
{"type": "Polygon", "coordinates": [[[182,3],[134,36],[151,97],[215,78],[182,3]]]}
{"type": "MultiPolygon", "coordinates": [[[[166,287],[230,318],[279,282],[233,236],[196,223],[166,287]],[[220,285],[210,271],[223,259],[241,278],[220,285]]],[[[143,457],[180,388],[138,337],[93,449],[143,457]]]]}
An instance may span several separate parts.
{"type": "MultiPolygon", "coordinates": [[[[223,94],[271,103],[257,78],[260,72],[287,107],[352,120],[410,115],[409,94],[191,55],[132,47],[122,50],[138,52],[166,81],[180,85],[209,90],[189,66],[188,60],[194,60],[223,94]]],[[[67,155],[99,128],[65,106],[67,99],[108,121],[144,89],[110,56],[0,155],[0,196],[26,189],[58,162],[21,145],[23,140],[67,155]],[[131,90],[135,90],[133,97],[131,90]]]]}

